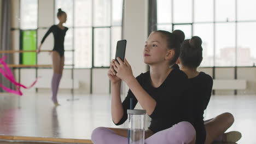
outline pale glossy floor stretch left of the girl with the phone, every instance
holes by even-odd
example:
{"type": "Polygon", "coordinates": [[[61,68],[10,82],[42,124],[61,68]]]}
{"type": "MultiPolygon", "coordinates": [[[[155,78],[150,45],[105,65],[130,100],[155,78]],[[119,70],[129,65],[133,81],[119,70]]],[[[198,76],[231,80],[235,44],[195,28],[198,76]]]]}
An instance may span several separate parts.
{"type": "Polygon", "coordinates": [[[1,94],[0,135],[16,136],[15,140],[39,137],[48,141],[50,137],[57,142],[82,139],[90,143],[93,129],[116,127],[109,115],[109,95],[75,95],[75,98],[79,100],[68,101],[71,94],[60,94],[61,106],[56,107],[47,93],[22,97],[1,94]]]}

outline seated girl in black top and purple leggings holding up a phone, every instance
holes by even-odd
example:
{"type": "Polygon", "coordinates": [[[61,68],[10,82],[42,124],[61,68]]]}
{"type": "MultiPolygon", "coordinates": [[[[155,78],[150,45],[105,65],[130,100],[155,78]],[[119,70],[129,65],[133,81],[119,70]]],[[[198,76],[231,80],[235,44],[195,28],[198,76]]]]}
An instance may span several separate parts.
{"type": "MultiPolygon", "coordinates": [[[[145,143],[195,143],[195,129],[191,124],[190,97],[188,94],[188,76],[179,69],[170,66],[176,63],[184,33],[176,30],[152,32],[144,47],[144,63],[150,70],[136,78],[130,64],[118,58],[110,63],[108,76],[112,87],[112,119],[116,125],[127,119],[127,109],[139,103],[152,118],[145,132],[145,143]],[[117,71],[117,73],[115,72],[117,71]],[[121,102],[121,80],[129,86],[127,97],[121,102]]],[[[96,128],[92,132],[95,144],[127,143],[127,129],[96,128]]]]}

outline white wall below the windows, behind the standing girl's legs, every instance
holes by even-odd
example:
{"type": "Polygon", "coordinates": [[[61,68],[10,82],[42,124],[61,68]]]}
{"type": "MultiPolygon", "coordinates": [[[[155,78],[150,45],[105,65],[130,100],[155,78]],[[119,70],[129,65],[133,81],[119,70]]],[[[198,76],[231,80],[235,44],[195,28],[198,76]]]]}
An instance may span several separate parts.
{"type": "MultiPolygon", "coordinates": [[[[94,94],[108,94],[109,93],[109,79],[107,76],[108,69],[98,68],[92,70],[92,93],[94,94]]],[[[18,81],[18,70],[15,70],[16,80],[18,81]]],[[[21,83],[25,86],[31,85],[31,83],[36,79],[36,70],[34,69],[21,69],[21,83]]],[[[38,92],[51,92],[51,78],[53,76],[53,69],[38,69],[38,81],[44,81],[46,87],[49,88],[39,88],[38,92]]],[[[62,82],[65,80],[71,80],[72,70],[65,69],[62,75],[62,82]]],[[[91,86],[91,70],[90,69],[74,69],[74,80],[79,82],[79,88],[75,89],[75,93],[89,94],[91,86]]],[[[35,92],[37,85],[32,87],[26,92],[35,92]]],[[[71,92],[70,89],[59,90],[60,93],[71,92]]]]}

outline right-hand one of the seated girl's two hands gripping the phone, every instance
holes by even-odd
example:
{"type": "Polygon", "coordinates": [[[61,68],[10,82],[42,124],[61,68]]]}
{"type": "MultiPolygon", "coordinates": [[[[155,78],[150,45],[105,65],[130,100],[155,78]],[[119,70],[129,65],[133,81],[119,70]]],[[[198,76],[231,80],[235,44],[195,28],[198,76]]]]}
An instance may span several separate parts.
{"type": "Polygon", "coordinates": [[[117,77],[127,83],[128,80],[133,78],[131,65],[124,59],[124,62],[118,57],[118,62],[114,61],[115,65],[113,66],[114,70],[117,71],[117,77]]]}

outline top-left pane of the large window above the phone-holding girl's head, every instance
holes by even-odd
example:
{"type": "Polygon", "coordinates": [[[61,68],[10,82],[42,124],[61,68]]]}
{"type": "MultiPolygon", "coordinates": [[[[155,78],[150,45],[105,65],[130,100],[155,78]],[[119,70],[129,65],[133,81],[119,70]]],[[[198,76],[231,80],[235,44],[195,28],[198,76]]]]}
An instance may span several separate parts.
{"type": "Polygon", "coordinates": [[[158,0],[158,23],[171,23],[172,22],[172,5],[170,0],[158,0]]]}

